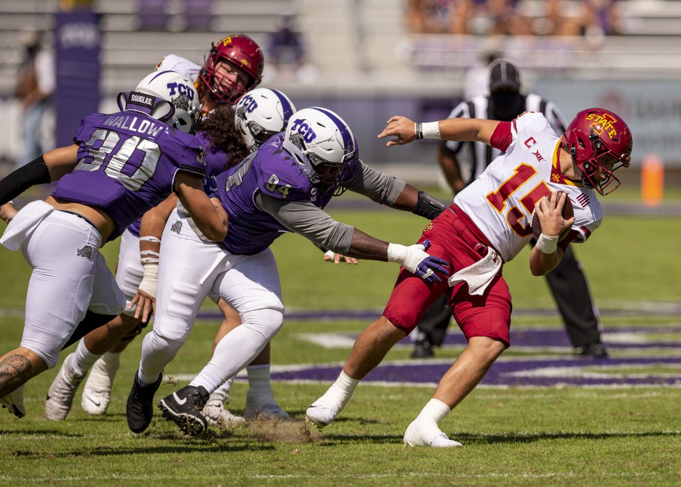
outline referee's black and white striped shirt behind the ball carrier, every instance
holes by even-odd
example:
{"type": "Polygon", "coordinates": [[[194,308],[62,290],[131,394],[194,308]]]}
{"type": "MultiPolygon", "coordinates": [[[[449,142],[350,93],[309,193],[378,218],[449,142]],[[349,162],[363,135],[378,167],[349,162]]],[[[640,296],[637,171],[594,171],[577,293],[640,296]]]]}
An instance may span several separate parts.
{"type": "MultiPolygon", "coordinates": [[[[563,115],[558,112],[558,108],[550,101],[547,101],[529,93],[523,95],[525,99],[526,112],[540,112],[549,121],[551,127],[560,134],[565,132],[565,121],[563,115]]],[[[486,96],[474,97],[471,101],[462,101],[458,104],[447,118],[466,118],[466,119],[494,119],[493,114],[488,110],[489,98],[486,96]]],[[[498,149],[490,147],[482,142],[454,142],[449,140],[445,146],[457,155],[461,178],[466,185],[477,178],[501,153],[498,149]]]]}

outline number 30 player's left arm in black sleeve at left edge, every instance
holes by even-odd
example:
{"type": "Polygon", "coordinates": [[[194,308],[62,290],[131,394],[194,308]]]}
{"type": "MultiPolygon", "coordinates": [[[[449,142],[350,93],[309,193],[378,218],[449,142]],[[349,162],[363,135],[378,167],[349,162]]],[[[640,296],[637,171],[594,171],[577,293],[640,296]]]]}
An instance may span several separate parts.
{"type": "Polygon", "coordinates": [[[0,180],[0,206],[16,198],[31,186],[44,185],[61,179],[78,162],[76,144],[58,147],[21,166],[0,180]]]}

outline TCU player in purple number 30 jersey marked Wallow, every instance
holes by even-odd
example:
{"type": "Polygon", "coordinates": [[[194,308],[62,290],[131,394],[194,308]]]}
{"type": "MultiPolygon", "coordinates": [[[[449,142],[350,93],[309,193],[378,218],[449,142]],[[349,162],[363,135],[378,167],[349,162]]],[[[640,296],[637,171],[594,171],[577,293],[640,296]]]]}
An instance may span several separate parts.
{"type": "Polygon", "coordinates": [[[5,204],[31,185],[59,180],[45,202],[14,215],[0,239],[22,249],[33,267],[21,345],[0,357],[1,403],[18,417],[25,414],[24,384],[57,364],[76,326],[83,320],[100,326],[125,307],[99,247],[172,191],[208,238],[227,233],[224,210],[202,188],[204,149],[189,135],[201,110],[191,82],[175,72],[153,73],[136,91],[121,93],[119,103],[121,112],[86,116],[74,145],[0,182],[5,204]]]}

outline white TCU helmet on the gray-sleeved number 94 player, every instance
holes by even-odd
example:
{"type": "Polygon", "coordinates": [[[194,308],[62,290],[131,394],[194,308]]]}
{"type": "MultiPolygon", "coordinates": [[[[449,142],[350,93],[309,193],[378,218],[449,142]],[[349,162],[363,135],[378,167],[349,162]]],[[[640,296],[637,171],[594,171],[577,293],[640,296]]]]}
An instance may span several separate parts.
{"type": "Polygon", "coordinates": [[[283,146],[314,184],[322,182],[325,168],[335,168],[336,182],[342,183],[343,172],[359,157],[350,127],[326,108],[303,108],[291,115],[283,146]]]}

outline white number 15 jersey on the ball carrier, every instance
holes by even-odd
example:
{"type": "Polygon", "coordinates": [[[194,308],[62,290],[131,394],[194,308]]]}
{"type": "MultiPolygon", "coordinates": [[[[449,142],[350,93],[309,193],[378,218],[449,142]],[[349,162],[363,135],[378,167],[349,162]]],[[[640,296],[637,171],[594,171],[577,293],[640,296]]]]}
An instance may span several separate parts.
{"type": "Polygon", "coordinates": [[[603,209],[593,189],[560,174],[556,132],[542,114],[526,112],[511,123],[511,136],[506,152],[454,202],[509,262],[533,236],[535,204],[552,191],[565,191],[575,210],[573,242],[584,242],[601,225],[603,209]]]}

